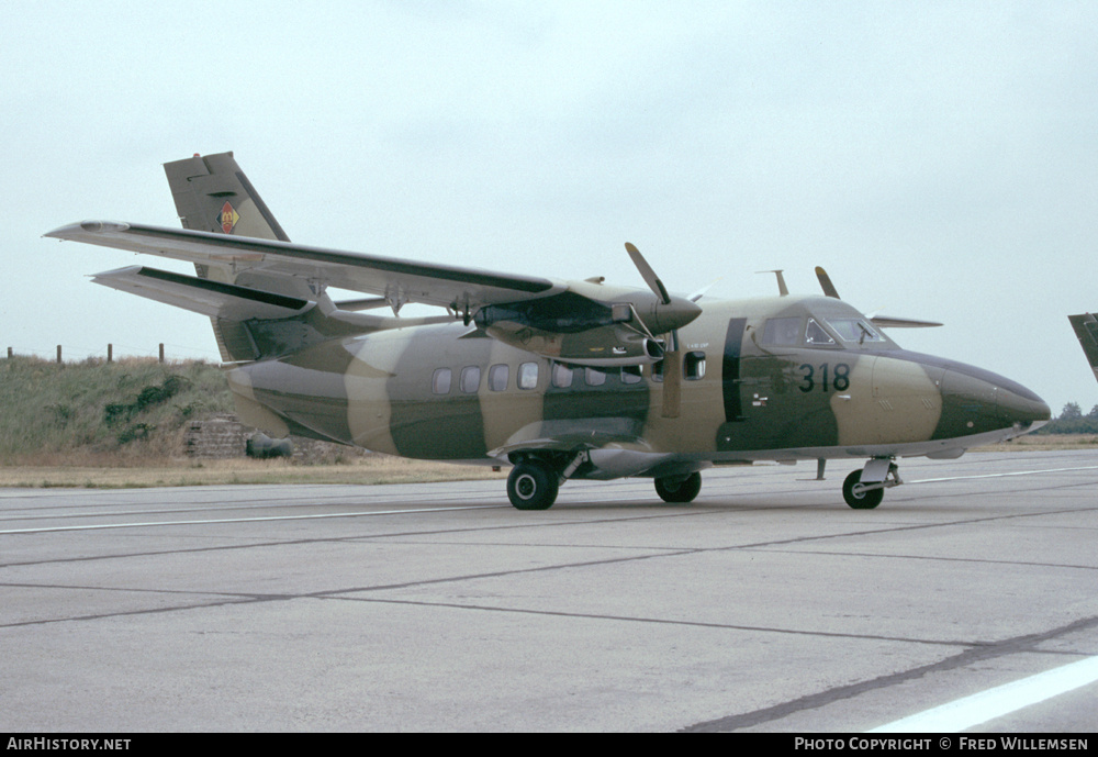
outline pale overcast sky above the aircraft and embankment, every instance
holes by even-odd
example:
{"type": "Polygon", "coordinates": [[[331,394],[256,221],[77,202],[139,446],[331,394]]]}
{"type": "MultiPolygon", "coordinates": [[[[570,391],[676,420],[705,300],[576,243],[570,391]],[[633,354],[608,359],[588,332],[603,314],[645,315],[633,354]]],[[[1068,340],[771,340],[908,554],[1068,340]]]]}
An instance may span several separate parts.
{"type": "MultiPolygon", "coordinates": [[[[5,2],[2,346],[216,361],[209,321],[41,235],[176,225],[234,151],[290,238],[938,320],[900,345],[1098,403],[1091,2],[5,2]]],[[[184,264],[146,258],[160,267],[184,264]]],[[[703,300],[703,303],[705,300],[703,300]]]]}

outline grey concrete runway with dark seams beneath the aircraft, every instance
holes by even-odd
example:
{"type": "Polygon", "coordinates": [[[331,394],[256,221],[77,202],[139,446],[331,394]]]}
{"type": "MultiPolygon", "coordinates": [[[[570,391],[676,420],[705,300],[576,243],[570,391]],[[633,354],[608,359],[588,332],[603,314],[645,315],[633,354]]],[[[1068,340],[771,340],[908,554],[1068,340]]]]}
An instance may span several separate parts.
{"type": "MultiPolygon", "coordinates": [[[[856,466],[533,513],[503,481],[0,490],[0,731],[862,732],[1098,656],[1098,452],[900,460],[874,511],[856,466]]],[[[1098,728],[1098,683],[1052,693],[962,727],[1098,728]]]]}

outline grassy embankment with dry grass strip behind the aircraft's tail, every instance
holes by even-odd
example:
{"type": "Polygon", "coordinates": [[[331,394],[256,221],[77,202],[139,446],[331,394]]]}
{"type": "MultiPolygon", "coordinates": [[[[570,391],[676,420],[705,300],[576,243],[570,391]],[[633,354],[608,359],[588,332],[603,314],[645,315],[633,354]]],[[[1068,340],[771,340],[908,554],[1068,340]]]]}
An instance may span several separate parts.
{"type": "Polygon", "coordinates": [[[380,455],[334,456],[345,460],[336,465],[187,457],[190,422],[227,412],[233,401],[225,376],[202,361],[3,359],[0,487],[395,483],[500,476],[491,468],[380,455]]]}

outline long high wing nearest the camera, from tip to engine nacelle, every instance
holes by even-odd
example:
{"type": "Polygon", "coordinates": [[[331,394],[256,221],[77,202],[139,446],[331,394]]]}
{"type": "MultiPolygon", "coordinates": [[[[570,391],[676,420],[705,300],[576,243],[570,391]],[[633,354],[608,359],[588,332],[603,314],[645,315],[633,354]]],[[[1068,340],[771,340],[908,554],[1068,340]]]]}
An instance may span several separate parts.
{"type": "Polygon", "coordinates": [[[46,236],[198,265],[231,264],[237,269],[294,277],[309,282],[316,293],[317,285],[322,285],[379,294],[394,310],[407,302],[419,302],[464,313],[486,304],[557,294],[568,288],[564,282],[530,276],[136,223],[85,221],[55,229],[46,236]]]}

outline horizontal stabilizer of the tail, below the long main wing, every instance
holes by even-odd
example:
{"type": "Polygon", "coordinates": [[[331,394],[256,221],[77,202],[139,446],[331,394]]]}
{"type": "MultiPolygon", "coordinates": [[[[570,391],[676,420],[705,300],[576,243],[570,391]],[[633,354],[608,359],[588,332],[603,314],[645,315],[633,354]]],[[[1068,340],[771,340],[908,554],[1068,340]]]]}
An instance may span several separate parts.
{"type": "Polygon", "coordinates": [[[299,315],[309,300],[145,266],[96,274],[92,281],[169,305],[228,321],[273,321],[299,315]]]}

